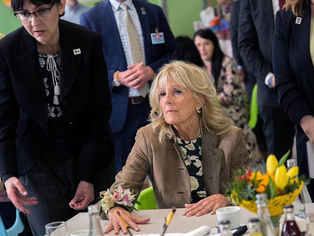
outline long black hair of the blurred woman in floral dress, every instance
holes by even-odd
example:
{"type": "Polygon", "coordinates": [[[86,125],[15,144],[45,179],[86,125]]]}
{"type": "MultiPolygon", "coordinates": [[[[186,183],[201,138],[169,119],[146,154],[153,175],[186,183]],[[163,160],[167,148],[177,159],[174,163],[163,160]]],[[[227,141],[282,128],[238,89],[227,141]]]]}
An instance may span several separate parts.
{"type": "Polygon", "coordinates": [[[214,34],[213,31],[206,29],[206,30],[198,30],[195,32],[193,40],[196,36],[199,36],[201,38],[209,39],[214,43],[214,52],[212,56],[212,75],[215,79],[215,86],[217,87],[217,80],[220,76],[221,66],[222,66],[222,60],[225,57],[225,54],[221,50],[218,42],[218,38],[214,34]]]}

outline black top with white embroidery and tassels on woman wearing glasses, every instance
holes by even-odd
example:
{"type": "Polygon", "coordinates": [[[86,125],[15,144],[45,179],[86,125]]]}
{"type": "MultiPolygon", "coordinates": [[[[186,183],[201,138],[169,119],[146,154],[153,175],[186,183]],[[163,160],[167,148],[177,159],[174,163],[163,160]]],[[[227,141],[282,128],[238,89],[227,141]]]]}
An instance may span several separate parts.
{"type": "MultiPolygon", "coordinates": [[[[48,141],[43,155],[54,162],[64,161],[69,158],[67,132],[59,104],[60,95],[55,95],[55,85],[58,85],[60,90],[61,84],[60,55],[61,53],[54,55],[38,53],[48,106],[48,141]]],[[[60,91],[57,94],[60,94],[60,91]]]]}

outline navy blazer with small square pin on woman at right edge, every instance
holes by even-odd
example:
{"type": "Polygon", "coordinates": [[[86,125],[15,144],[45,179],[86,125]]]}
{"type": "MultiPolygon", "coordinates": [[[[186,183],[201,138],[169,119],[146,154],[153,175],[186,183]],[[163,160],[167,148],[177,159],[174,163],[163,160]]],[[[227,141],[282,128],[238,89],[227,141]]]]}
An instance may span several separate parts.
{"type": "Polygon", "coordinates": [[[276,14],[273,41],[275,92],[279,104],[298,130],[300,119],[314,114],[314,66],[310,54],[310,1],[304,8],[301,24],[296,24],[291,11],[276,14]]]}

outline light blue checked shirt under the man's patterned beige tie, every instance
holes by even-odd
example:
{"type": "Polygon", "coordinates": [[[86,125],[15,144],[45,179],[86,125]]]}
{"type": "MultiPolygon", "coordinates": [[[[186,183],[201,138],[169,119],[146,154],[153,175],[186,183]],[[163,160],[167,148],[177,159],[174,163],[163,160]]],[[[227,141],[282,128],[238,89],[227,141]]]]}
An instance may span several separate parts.
{"type": "MultiPolygon", "coordinates": [[[[116,24],[119,30],[125,58],[127,59],[127,65],[133,65],[130,44],[127,38],[127,30],[125,28],[125,24],[123,20],[124,11],[122,8],[120,8],[121,2],[117,0],[109,0],[109,2],[111,4],[111,8],[116,19],[116,24]]],[[[125,0],[123,3],[127,4],[127,7],[128,7],[127,12],[129,13],[130,17],[132,18],[134,22],[134,25],[138,34],[139,42],[141,44],[143,58],[144,58],[144,65],[145,65],[144,40],[143,40],[142,27],[141,27],[141,23],[139,22],[138,14],[136,12],[134,4],[132,3],[132,0],[125,0]]],[[[129,97],[137,97],[137,96],[140,96],[138,91],[136,89],[129,88],[129,97]]]]}

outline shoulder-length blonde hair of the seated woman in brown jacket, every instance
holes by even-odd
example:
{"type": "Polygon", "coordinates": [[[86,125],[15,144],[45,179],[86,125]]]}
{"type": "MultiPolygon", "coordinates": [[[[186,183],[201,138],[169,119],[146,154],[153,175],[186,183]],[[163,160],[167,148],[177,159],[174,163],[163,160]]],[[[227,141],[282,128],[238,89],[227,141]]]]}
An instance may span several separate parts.
{"type": "Polygon", "coordinates": [[[229,130],[230,121],[225,117],[220,105],[217,104],[216,89],[207,72],[194,64],[173,61],[160,68],[149,93],[152,108],[149,120],[152,122],[153,131],[158,135],[161,145],[166,146],[166,140],[176,136],[172,126],[166,123],[160,106],[160,90],[165,88],[169,80],[192,91],[196,101],[203,104],[199,114],[201,126],[217,135],[229,130]]]}

